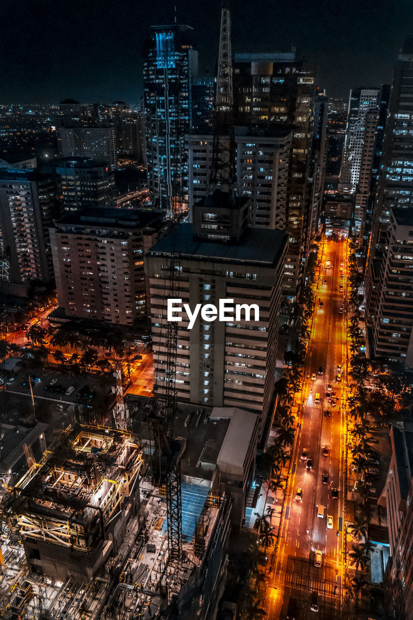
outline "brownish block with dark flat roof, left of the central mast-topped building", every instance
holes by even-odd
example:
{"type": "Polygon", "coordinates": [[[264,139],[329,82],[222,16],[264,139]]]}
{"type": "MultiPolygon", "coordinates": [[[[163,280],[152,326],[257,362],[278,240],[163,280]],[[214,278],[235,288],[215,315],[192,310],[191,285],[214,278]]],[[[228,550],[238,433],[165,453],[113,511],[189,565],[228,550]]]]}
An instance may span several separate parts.
{"type": "Polygon", "coordinates": [[[50,239],[58,302],[67,316],[132,325],[146,316],[143,255],[158,241],[164,213],[73,211],[50,239]]]}

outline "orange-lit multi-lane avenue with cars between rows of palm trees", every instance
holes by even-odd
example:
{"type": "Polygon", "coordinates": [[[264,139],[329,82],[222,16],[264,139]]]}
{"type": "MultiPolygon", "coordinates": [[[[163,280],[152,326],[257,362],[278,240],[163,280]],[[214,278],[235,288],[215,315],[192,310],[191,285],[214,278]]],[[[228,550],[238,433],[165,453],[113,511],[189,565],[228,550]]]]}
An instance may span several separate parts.
{"type": "Polygon", "coordinates": [[[316,268],[314,282],[316,305],[303,385],[295,401],[301,404],[298,420],[301,428],[297,430],[293,447],[278,552],[273,557],[267,587],[267,617],[274,620],[286,618],[290,596],[298,599],[300,613],[296,620],[340,617],[344,574],[346,310],[344,307],[344,311],[339,312],[339,307],[345,306],[346,247],[344,240],[326,239],[319,248],[321,265],[316,268]],[[344,292],[340,292],[340,284],[344,292]],[[339,380],[337,365],[343,365],[344,371],[339,380]],[[336,392],[335,405],[327,401],[329,384],[331,392],[336,392]],[[319,403],[316,402],[318,394],[319,403]],[[324,415],[326,410],[330,417],[324,415]],[[328,448],[327,456],[323,454],[324,447],[328,448]],[[313,461],[312,469],[306,467],[304,449],[306,458],[313,461]],[[328,474],[327,484],[322,483],[322,474],[328,474]],[[298,487],[303,490],[301,500],[296,499],[298,487]],[[338,490],[337,499],[332,498],[332,489],[338,490]],[[322,517],[318,516],[319,506],[324,506],[322,517]],[[327,516],[332,516],[332,529],[327,528],[327,516]],[[316,551],[322,553],[321,567],[314,565],[316,551]],[[313,591],[319,593],[317,615],[310,610],[313,591]]]}

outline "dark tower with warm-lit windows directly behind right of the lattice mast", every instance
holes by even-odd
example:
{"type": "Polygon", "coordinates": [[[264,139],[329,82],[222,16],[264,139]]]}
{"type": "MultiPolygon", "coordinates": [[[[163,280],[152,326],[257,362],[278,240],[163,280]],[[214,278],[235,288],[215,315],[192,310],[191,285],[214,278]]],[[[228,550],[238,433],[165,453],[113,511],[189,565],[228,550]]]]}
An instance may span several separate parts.
{"type": "Polygon", "coordinates": [[[293,131],[286,198],[288,254],[292,276],[283,291],[295,296],[309,246],[311,171],[310,136],[314,75],[291,53],[236,54],[234,107],[240,124],[284,126],[293,131]],[[290,281],[289,281],[290,280],[290,281]]]}

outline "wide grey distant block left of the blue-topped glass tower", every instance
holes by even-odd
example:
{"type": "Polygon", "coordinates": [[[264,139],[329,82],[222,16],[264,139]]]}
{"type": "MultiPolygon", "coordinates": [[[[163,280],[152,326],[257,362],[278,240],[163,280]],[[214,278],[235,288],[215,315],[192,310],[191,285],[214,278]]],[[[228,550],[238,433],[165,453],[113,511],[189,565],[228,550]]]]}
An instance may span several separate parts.
{"type": "Polygon", "coordinates": [[[116,170],[115,128],[95,126],[60,127],[59,152],[62,157],[92,157],[116,170]]]}

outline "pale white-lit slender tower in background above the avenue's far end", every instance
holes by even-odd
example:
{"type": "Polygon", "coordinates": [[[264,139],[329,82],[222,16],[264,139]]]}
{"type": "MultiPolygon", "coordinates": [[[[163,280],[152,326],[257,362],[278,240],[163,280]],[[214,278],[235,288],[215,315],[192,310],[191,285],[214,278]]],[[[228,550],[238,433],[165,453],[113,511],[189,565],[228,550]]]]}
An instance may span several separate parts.
{"type": "MultiPolygon", "coordinates": [[[[379,107],[380,89],[357,88],[350,91],[347,128],[340,170],[340,185],[355,193],[360,175],[366,114],[379,107]]],[[[371,126],[370,126],[371,129],[371,126]]]]}

